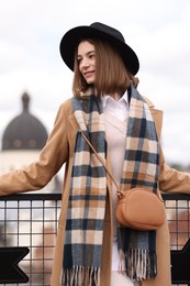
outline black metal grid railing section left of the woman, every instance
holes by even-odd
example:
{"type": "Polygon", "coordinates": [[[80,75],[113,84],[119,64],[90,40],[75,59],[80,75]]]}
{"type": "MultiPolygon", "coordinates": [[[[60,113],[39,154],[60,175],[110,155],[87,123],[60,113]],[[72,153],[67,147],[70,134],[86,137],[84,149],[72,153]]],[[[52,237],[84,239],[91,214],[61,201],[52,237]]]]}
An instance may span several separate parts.
{"type": "Polygon", "coordinates": [[[20,263],[30,282],[22,285],[49,285],[59,211],[60,194],[0,198],[0,246],[30,249],[20,263]]]}

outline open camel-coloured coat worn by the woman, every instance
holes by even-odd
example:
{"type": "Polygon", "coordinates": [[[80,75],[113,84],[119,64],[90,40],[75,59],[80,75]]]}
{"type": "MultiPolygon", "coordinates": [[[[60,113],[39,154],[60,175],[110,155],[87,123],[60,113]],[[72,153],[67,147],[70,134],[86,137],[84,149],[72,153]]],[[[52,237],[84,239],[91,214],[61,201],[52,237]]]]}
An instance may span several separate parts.
{"type": "MultiPolygon", "coordinates": [[[[147,99],[146,99],[147,100],[147,99]]],[[[156,110],[147,100],[155,119],[158,138],[160,140],[163,112],[156,110]]],[[[45,147],[42,150],[38,161],[32,163],[25,169],[11,172],[0,176],[0,196],[26,190],[41,189],[53,176],[65,167],[65,179],[63,186],[62,211],[58,220],[58,233],[55,246],[55,257],[51,286],[60,286],[63,267],[63,245],[66,224],[66,211],[69,197],[70,175],[72,167],[72,155],[78,124],[74,118],[71,100],[68,99],[58,110],[54,129],[48,138],[45,147]]],[[[110,167],[109,154],[107,165],[110,167]]],[[[190,194],[190,175],[180,173],[165,164],[161,152],[160,156],[159,189],[164,193],[190,194]]],[[[105,207],[105,222],[102,248],[102,266],[100,286],[110,286],[111,257],[112,257],[112,194],[111,182],[108,177],[108,198],[105,207]]],[[[170,241],[167,219],[164,226],[157,231],[157,262],[158,276],[154,280],[144,280],[142,286],[170,286],[170,241]]],[[[77,286],[77,285],[76,285],[77,286]]]]}

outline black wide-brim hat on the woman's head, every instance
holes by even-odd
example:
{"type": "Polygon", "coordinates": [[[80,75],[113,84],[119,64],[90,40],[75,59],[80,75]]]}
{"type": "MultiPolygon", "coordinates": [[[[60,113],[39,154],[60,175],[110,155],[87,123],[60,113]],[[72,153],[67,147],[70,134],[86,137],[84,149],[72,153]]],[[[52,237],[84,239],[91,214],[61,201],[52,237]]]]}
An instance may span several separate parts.
{"type": "Polygon", "coordinates": [[[60,55],[65,64],[74,70],[75,51],[81,40],[102,38],[114,46],[123,58],[126,69],[136,75],[139,62],[135,52],[125,43],[122,33],[114,28],[96,22],[89,26],[82,25],[69,30],[60,41],[60,55]]]}

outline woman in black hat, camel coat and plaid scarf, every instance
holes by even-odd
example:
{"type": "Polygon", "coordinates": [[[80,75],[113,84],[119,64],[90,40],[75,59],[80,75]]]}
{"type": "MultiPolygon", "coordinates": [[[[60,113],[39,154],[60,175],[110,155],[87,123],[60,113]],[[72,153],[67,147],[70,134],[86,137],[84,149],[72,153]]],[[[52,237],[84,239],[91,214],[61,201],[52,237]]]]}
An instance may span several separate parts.
{"type": "Polygon", "coordinates": [[[38,161],[0,177],[0,195],[40,189],[66,164],[51,285],[169,286],[167,220],[157,231],[121,228],[115,186],[83,138],[121,189],[190,193],[190,175],[165,164],[161,111],[136,90],[138,58],[102,23],[68,31],[60,54],[74,70],[74,97],[60,106],[38,161]]]}

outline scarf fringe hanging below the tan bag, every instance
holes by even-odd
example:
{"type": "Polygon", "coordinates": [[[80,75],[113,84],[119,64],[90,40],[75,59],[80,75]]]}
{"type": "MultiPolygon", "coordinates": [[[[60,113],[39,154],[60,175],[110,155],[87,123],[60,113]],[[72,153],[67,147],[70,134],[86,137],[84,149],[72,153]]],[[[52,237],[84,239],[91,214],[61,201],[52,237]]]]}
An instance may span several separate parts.
{"type": "Polygon", "coordinates": [[[124,253],[120,250],[119,272],[126,271],[132,280],[153,279],[157,275],[156,253],[147,250],[128,250],[124,253]],[[125,270],[123,267],[125,260],[125,270]]]}

